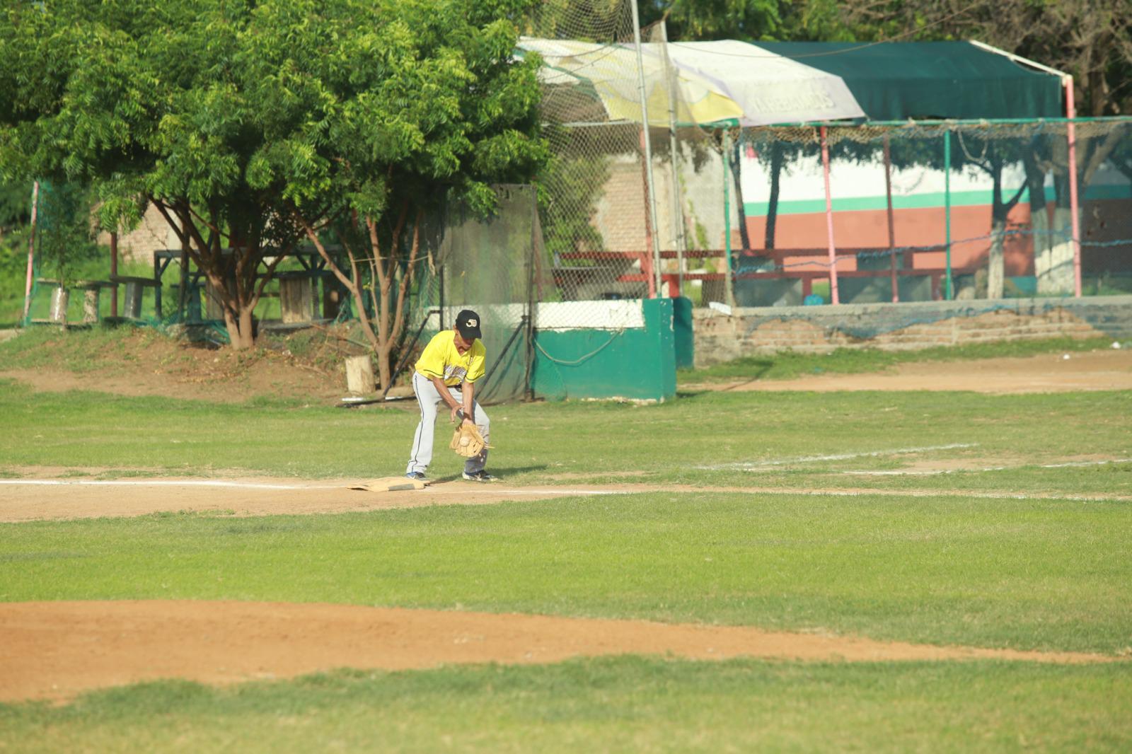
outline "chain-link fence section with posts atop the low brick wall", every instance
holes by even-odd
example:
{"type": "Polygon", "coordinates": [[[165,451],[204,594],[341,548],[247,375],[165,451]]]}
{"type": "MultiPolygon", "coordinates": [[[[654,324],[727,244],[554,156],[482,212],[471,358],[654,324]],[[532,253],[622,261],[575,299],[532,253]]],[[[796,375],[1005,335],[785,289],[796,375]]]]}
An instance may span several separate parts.
{"type": "Polygon", "coordinates": [[[834,284],[843,303],[1072,295],[1078,275],[1084,294],[1132,292],[1132,121],[1072,123],[1075,188],[1070,128],[827,126],[832,239],[822,129],[737,131],[736,303],[830,302],[834,284]]]}

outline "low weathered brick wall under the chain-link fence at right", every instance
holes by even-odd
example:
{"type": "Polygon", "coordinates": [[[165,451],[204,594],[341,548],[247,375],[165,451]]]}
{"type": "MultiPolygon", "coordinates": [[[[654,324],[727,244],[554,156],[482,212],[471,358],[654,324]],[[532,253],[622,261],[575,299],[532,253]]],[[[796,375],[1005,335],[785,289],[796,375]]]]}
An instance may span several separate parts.
{"type": "Polygon", "coordinates": [[[1132,337],[1132,295],[695,309],[695,365],[755,353],[911,350],[1048,337],[1132,337]]]}

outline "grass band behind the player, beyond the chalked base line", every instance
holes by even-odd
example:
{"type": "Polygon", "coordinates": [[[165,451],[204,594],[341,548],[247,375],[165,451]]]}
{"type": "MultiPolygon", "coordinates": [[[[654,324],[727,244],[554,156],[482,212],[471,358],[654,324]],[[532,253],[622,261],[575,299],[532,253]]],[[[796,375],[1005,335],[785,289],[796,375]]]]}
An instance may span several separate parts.
{"type": "MultiPolygon", "coordinates": [[[[34,393],[0,383],[0,471],[45,465],[209,475],[372,478],[404,469],[418,418],[396,405],[211,404],[101,393],[34,393]]],[[[651,406],[490,406],[491,470],[512,483],[569,481],[1132,495],[1132,392],[686,394],[651,406]],[[941,447],[954,446],[954,447],[941,447]],[[898,451],[935,447],[924,452],[898,451]],[[953,462],[992,472],[859,477],[953,462]]],[[[430,475],[460,474],[438,444],[430,475]]],[[[110,472],[115,473],[115,472],[110,472]]]]}

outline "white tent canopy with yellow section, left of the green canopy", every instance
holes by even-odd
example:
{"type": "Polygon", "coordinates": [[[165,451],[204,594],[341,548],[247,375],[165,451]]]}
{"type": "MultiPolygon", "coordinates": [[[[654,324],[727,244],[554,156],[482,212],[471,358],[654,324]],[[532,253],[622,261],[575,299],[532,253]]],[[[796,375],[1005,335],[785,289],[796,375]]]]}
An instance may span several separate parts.
{"type": "MultiPolygon", "coordinates": [[[[590,86],[611,120],[640,122],[637,59],[632,44],[523,37],[518,48],[520,54],[542,57],[544,84],[590,86]]],[[[679,125],[697,126],[865,117],[839,76],[745,42],[645,43],[642,58],[653,126],[668,126],[670,117],[679,125]]]]}

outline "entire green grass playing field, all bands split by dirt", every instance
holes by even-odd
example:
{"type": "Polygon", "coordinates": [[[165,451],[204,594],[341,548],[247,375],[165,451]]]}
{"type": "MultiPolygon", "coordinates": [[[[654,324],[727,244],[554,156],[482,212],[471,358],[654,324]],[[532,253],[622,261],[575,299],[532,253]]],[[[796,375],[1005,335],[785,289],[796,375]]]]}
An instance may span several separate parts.
{"type": "MultiPolygon", "coordinates": [[[[1132,748],[1132,394],[688,392],[652,406],[489,411],[489,465],[508,483],[700,489],[0,524],[0,601],[522,611],[1125,659],[625,657],[221,689],[170,680],[0,704],[0,751],[1132,748]]],[[[417,421],[396,408],[49,395],[12,382],[0,384],[0,417],[9,478],[35,465],[100,478],[393,474],[417,421]]],[[[438,453],[430,471],[458,468],[438,453]]]]}

